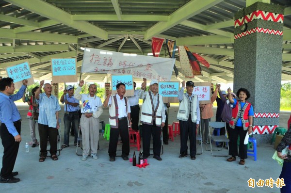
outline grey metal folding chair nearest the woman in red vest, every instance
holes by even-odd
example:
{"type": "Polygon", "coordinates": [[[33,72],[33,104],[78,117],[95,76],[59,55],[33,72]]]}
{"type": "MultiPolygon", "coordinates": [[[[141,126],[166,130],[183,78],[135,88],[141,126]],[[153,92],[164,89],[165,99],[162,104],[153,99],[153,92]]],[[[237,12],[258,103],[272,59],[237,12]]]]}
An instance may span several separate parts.
{"type": "MultiPolygon", "coordinates": [[[[226,157],[226,156],[228,156],[228,152],[227,152],[227,155],[213,155],[213,152],[212,151],[221,151],[223,149],[224,144],[227,143],[227,142],[229,142],[229,139],[227,139],[227,135],[219,135],[219,136],[210,135],[210,127],[213,128],[213,129],[214,128],[223,128],[224,127],[225,130],[226,130],[226,123],[225,122],[209,122],[208,131],[209,131],[209,140],[210,140],[211,155],[212,156],[218,156],[218,157],[226,157]],[[223,142],[222,147],[219,148],[219,149],[213,150],[212,149],[212,143],[211,143],[211,141],[214,141],[214,142],[223,142]]],[[[229,145],[227,145],[227,148],[229,150],[229,145]]],[[[206,150],[209,151],[207,149],[207,145],[206,145],[206,150]]]]}

